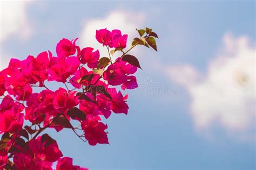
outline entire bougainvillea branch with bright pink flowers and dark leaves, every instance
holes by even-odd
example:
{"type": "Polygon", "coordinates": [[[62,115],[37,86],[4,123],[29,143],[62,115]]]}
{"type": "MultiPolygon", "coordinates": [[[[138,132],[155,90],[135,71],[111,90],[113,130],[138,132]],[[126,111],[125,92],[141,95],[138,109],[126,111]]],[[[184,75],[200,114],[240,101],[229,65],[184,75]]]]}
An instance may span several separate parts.
{"type": "Polygon", "coordinates": [[[0,169],[87,169],[73,165],[43,131],[70,129],[89,145],[109,144],[102,119],[127,114],[124,90],[138,87],[134,73],[141,67],[128,52],[137,45],[157,51],[157,34],[149,28],[137,31],[140,38],[125,49],[127,34],[97,30],[96,40],[109,57],[100,57],[98,49],[79,47],[78,38],[63,38],[56,56],[45,51],[10,60],[0,71],[0,169]],[[121,55],[116,56],[117,51],[121,55]],[[49,82],[59,88],[52,90],[49,82]]]}

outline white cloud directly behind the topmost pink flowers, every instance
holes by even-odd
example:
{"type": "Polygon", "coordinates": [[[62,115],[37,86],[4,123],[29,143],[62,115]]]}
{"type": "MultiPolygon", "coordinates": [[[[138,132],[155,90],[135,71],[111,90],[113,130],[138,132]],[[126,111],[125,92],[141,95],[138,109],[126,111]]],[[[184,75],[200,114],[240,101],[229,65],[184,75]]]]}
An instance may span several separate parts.
{"type": "Polygon", "coordinates": [[[93,47],[99,49],[101,56],[108,56],[106,49],[96,40],[96,30],[105,29],[121,30],[123,34],[128,34],[127,47],[134,37],[138,37],[136,29],[144,27],[145,15],[140,12],[128,12],[124,10],[114,10],[104,18],[92,18],[86,20],[84,28],[80,34],[79,44],[82,47],[93,47]]]}

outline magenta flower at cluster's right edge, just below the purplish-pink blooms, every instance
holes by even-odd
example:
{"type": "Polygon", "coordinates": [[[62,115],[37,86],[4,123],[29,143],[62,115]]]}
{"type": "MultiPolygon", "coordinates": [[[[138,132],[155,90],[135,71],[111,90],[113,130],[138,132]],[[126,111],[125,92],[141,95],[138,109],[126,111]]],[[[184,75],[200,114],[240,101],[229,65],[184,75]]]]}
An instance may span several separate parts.
{"type": "Polygon", "coordinates": [[[127,114],[129,107],[125,102],[125,100],[127,100],[128,95],[123,96],[121,91],[117,93],[117,90],[115,88],[109,88],[108,91],[113,101],[111,103],[111,110],[116,114],[120,114],[120,113],[127,114]]]}

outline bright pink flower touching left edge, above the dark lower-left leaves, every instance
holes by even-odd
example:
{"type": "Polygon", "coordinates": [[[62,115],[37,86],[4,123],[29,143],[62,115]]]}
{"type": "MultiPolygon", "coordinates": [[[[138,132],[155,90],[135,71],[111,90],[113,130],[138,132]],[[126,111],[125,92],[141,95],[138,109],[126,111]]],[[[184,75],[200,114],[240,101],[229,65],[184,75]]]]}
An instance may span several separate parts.
{"type": "Polygon", "coordinates": [[[16,133],[22,129],[24,114],[11,110],[6,110],[2,114],[0,113],[0,133],[10,132],[16,133]]]}

